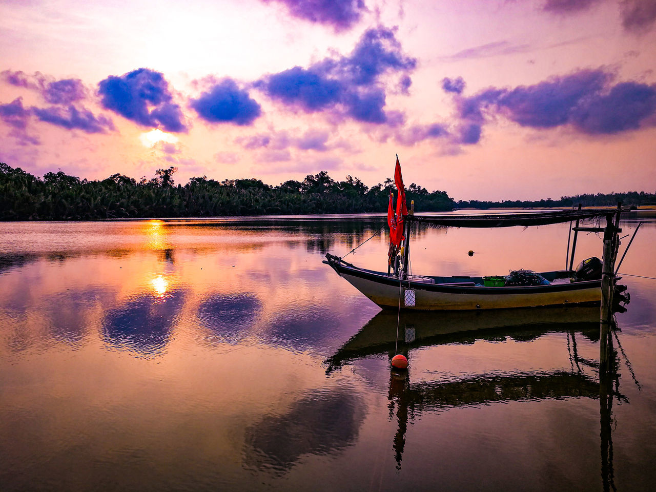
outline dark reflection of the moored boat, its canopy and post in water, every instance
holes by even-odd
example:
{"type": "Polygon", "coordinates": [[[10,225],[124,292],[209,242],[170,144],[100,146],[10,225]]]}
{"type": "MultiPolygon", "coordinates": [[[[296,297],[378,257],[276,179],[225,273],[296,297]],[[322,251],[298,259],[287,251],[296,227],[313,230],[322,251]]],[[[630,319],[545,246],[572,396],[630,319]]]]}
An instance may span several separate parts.
{"type": "MultiPolygon", "coordinates": [[[[562,368],[539,371],[498,371],[449,375],[446,380],[414,382],[412,369],[392,369],[388,386],[389,419],[396,418],[397,430],[392,442],[396,467],[401,468],[405,434],[409,422],[421,420],[424,412],[447,411],[455,407],[478,407],[510,401],[562,400],[590,398],[600,400],[601,469],[604,491],[613,483],[613,400],[628,403],[619,392],[618,353],[611,346],[611,364],[599,374],[599,363],[579,356],[577,337],[598,342],[600,327],[598,306],[525,308],[497,312],[405,312],[400,317],[397,346],[397,312],[383,310],[356,335],[325,361],[327,373],[358,359],[386,354],[408,355],[413,350],[441,344],[474,344],[477,340],[535,340],[549,333],[566,333],[571,370],[562,368]]],[[[617,338],[617,327],[611,338],[617,338]]],[[[620,347],[621,348],[621,347],[620,347]]],[[[412,365],[412,363],[411,363],[412,365]]],[[[630,367],[630,364],[627,364],[630,367]]],[[[633,375],[632,375],[633,376],[633,375]]],[[[636,381],[637,384],[637,381],[636,381]]]]}

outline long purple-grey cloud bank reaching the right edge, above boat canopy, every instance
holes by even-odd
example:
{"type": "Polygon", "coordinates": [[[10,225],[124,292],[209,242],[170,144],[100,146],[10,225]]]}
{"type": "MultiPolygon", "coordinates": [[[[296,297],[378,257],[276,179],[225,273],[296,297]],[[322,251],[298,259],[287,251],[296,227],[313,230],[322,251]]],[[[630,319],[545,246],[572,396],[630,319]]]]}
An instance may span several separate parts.
{"type": "Polygon", "coordinates": [[[480,140],[485,112],[499,113],[523,127],[572,125],[586,134],[638,129],[656,115],[656,85],[624,82],[611,87],[612,79],[602,69],[580,70],[535,85],[490,88],[457,98],[461,143],[480,140]]]}

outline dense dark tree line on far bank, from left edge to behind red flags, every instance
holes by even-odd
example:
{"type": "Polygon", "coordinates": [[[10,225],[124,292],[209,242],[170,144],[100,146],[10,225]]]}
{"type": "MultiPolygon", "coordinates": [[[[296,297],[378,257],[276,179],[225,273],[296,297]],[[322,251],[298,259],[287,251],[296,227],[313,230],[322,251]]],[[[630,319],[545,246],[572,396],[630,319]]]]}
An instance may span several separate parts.
{"type": "MultiPolygon", "coordinates": [[[[382,213],[390,190],[396,192],[391,178],[369,188],[359,178],[337,181],[326,171],[278,186],[255,178],[217,181],[207,176],[181,186],[174,183],[176,171],[157,169],[153,178],[139,181],[123,174],[89,181],[62,171],[38,178],[0,163],[0,220],[382,213]]],[[[407,187],[406,198],[415,200],[417,211],[455,208],[446,192],[428,192],[415,183],[407,187]]]]}

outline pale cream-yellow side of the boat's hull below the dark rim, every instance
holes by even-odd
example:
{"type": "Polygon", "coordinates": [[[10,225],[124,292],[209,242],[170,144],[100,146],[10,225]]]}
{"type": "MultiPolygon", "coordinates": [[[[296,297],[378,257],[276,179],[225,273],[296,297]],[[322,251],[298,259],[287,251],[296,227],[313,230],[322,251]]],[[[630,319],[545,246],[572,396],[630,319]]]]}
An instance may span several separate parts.
{"type": "MultiPolygon", "coordinates": [[[[349,275],[341,272],[351,285],[361,293],[373,300],[379,306],[398,308],[399,286],[386,285],[369,279],[349,275]]],[[[466,309],[502,309],[525,308],[533,306],[554,306],[560,304],[577,304],[579,302],[600,302],[601,289],[577,289],[554,292],[512,293],[512,294],[480,294],[480,289],[497,289],[498,287],[462,287],[472,289],[472,293],[445,293],[422,290],[413,285],[415,291],[415,307],[406,309],[416,310],[466,310],[466,309]]],[[[531,287],[522,287],[531,289],[531,287]]],[[[403,306],[403,290],[401,289],[401,307],[403,306]]]]}

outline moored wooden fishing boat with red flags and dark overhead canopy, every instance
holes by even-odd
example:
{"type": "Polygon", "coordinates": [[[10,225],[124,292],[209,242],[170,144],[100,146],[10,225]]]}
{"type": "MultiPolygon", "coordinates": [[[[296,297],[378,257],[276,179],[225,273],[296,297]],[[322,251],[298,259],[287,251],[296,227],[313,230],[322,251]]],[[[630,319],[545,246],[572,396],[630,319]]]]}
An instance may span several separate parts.
{"type": "MultiPolygon", "coordinates": [[[[395,213],[393,196],[390,192],[388,207],[390,253],[388,253],[387,272],[359,268],[330,253],[327,253],[326,260],[323,261],[380,307],[411,310],[486,310],[599,304],[602,298],[602,260],[587,258],[574,270],[576,238],[579,231],[604,232],[604,229],[599,227],[582,227],[582,221],[599,222],[605,218],[606,222],[611,224],[615,220],[615,231],[619,231],[617,225],[621,207],[504,215],[417,216],[413,212],[414,204],[412,203],[408,210],[405,203],[405,188],[398,157],[394,181],[398,189],[398,197],[395,213]],[[496,228],[544,226],[565,222],[576,224],[573,228],[571,260],[569,268],[565,270],[550,272],[517,270],[508,276],[434,276],[412,275],[409,269],[405,268],[409,265],[410,236],[415,224],[434,228],[496,228]]],[[[614,255],[617,255],[618,246],[619,244],[613,245],[614,255]]],[[[614,262],[613,257],[613,265],[614,262]]],[[[612,272],[613,270],[611,274],[612,272]]],[[[611,276],[612,285],[616,285],[620,277],[611,276]]],[[[618,295],[617,300],[628,302],[628,298],[622,295],[618,295]]]]}

